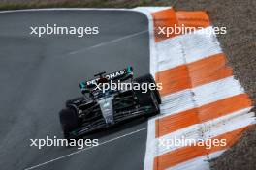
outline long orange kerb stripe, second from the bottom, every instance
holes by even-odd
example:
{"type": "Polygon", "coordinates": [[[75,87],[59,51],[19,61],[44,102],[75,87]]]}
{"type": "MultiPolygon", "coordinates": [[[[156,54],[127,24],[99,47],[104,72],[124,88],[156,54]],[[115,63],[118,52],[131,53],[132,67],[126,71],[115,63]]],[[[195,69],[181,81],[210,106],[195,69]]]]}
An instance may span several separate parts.
{"type": "Polygon", "coordinates": [[[252,103],[248,95],[240,94],[231,98],[217,100],[198,108],[189,109],[175,115],[166,116],[155,121],[155,137],[161,137],[180,128],[207,122],[240,109],[250,107],[251,105],[252,103]]]}

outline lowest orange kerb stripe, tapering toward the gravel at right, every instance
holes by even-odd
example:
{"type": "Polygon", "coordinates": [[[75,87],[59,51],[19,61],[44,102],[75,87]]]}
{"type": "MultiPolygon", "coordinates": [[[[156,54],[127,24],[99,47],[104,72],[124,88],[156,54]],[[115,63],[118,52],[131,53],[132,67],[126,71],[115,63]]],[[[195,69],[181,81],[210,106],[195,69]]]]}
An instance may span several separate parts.
{"type": "Polygon", "coordinates": [[[217,151],[227,149],[234,145],[241,137],[242,132],[250,126],[239,128],[231,132],[224,133],[212,139],[226,139],[226,146],[212,146],[211,149],[206,149],[207,146],[187,146],[176,149],[162,156],[156,156],[154,158],[154,170],[164,170],[166,168],[175,166],[179,163],[185,162],[192,158],[199,156],[205,156],[217,151]]]}

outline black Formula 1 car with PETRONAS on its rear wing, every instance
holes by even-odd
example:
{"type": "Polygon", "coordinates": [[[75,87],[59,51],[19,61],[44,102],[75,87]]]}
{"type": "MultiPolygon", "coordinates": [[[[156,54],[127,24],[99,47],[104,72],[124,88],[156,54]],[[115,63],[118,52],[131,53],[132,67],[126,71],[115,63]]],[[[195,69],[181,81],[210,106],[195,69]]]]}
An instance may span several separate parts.
{"type": "Polygon", "coordinates": [[[110,74],[100,72],[96,78],[81,82],[82,97],[66,101],[66,108],[59,112],[60,124],[66,139],[77,138],[97,129],[108,128],[125,120],[150,117],[160,112],[161,98],[151,74],[133,78],[133,68],[128,67],[110,74]],[[142,89],[103,90],[106,84],[147,84],[142,89]],[[151,84],[151,85],[149,85],[151,84]],[[151,89],[151,90],[150,90],[151,89]]]}

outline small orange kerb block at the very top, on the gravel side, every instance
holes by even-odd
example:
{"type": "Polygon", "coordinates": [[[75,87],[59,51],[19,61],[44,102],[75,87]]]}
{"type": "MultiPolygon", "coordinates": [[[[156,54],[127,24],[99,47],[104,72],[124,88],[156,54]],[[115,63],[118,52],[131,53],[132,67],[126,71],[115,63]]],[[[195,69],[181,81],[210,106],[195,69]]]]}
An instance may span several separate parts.
{"type": "Polygon", "coordinates": [[[208,14],[206,12],[176,12],[176,17],[178,20],[178,24],[181,26],[182,24],[185,27],[208,27],[210,25],[210,21],[208,18],[208,14]]]}

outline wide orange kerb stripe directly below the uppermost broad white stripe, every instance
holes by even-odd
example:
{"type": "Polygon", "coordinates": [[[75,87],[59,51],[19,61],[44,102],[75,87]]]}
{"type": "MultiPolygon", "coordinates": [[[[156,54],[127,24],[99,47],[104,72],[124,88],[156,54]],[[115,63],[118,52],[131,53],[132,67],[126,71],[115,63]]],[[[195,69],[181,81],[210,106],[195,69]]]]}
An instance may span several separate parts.
{"type": "Polygon", "coordinates": [[[221,53],[170,70],[156,72],[155,77],[158,83],[162,83],[161,96],[165,96],[231,75],[232,69],[226,66],[226,57],[221,53]]]}

